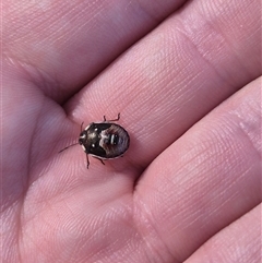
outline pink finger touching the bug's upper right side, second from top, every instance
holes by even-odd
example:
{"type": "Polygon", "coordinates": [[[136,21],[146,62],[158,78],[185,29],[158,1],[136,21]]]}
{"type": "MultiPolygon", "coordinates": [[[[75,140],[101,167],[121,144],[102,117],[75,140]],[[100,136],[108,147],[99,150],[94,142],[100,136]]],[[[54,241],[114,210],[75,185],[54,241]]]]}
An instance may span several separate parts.
{"type": "Polygon", "coordinates": [[[127,164],[143,169],[261,74],[260,27],[254,2],[214,2],[207,9],[193,1],[75,96],[69,117],[81,123],[121,112],[131,135],[127,164]]]}

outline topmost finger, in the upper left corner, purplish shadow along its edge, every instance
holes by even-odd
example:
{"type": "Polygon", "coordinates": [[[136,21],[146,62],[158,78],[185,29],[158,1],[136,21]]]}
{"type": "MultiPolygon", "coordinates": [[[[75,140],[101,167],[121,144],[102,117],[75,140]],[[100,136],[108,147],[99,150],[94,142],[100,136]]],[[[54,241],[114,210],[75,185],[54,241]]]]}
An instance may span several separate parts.
{"type": "Polygon", "coordinates": [[[61,100],[183,2],[3,2],[4,55],[47,96],[61,100]]]}

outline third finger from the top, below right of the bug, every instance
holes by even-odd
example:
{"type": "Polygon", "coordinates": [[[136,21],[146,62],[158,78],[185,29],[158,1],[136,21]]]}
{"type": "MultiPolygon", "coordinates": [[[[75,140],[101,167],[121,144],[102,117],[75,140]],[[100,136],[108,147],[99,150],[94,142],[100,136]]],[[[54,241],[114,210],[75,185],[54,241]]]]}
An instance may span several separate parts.
{"type": "Polygon", "coordinates": [[[136,220],[148,222],[179,262],[261,202],[260,85],[213,110],[139,181],[136,220]]]}

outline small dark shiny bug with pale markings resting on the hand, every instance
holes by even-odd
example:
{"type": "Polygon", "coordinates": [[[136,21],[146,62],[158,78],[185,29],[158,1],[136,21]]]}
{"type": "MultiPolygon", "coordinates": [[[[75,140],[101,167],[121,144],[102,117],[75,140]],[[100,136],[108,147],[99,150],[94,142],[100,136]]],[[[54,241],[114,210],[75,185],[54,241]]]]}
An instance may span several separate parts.
{"type": "Polygon", "coordinates": [[[84,130],[82,130],[84,123],[82,122],[79,142],[67,146],[59,153],[80,144],[86,153],[87,169],[90,167],[88,154],[99,159],[103,165],[105,165],[103,159],[114,159],[123,156],[129,148],[130,138],[121,125],[111,123],[111,121],[118,120],[120,120],[120,113],[118,113],[116,120],[106,120],[104,116],[103,122],[92,122],[84,130]]]}

